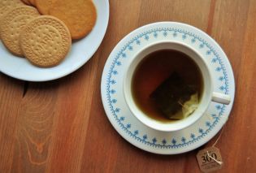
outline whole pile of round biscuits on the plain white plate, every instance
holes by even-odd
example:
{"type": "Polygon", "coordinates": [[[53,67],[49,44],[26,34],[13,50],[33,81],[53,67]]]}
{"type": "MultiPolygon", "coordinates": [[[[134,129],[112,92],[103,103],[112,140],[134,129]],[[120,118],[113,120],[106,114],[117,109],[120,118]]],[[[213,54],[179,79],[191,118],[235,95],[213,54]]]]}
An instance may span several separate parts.
{"type": "Polygon", "coordinates": [[[92,0],[0,0],[0,37],[12,54],[54,67],[96,23],[92,0]]]}

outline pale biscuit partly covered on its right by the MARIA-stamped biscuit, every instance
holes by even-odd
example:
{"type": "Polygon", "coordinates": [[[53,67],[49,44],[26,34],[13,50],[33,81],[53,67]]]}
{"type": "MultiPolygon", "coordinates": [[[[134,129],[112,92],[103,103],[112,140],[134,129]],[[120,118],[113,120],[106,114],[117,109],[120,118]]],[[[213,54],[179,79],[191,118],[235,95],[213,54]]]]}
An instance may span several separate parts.
{"type": "Polygon", "coordinates": [[[12,54],[23,56],[20,49],[20,31],[29,20],[39,15],[36,8],[32,6],[19,6],[4,15],[0,34],[2,42],[12,54]]]}

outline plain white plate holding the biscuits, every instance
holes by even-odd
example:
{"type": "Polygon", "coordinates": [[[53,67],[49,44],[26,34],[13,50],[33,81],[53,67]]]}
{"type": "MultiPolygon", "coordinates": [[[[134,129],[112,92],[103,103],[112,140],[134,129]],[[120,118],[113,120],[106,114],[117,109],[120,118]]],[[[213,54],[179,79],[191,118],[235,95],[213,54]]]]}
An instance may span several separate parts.
{"type": "Polygon", "coordinates": [[[51,68],[33,66],[27,59],[9,53],[0,41],[0,71],[20,80],[47,81],[67,76],[83,66],[98,50],[106,33],[109,19],[108,0],[93,0],[93,2],[98,13],[93,31],[87,37],[73,42],[72,50],[58,66],[51,68]]]}

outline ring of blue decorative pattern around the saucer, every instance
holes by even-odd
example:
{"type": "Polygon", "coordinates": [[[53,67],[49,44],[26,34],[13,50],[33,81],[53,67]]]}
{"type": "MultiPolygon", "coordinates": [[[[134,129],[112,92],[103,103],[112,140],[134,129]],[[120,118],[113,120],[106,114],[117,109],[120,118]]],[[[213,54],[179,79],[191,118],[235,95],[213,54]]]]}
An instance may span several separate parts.
{"type": "Polygon", "coordinates": [[[219,54],[214,50],[212,46],[210,46],[210,44],[208,44],[205,40],[193,34],[192,32],[187,32],[182,29],[155,28],[147,32],[142,32],[141,34],[137,35],[137,37],[134,37],[131,41],[128,41],[128,43],[124,45],[124,47],[116,55],[114,61],[111,63],[111,69],[108,72],[108,76],[106,79],[106,97],[108,105],[111,109],[112,115],[114,116],[116,123],[118,123],[119,127],[122,128],[124,132],[126,132],[129,136],[132,136],[135,140],[145,145],[150,145],[156,148],[177,149],[184,146],[192,145],[194,142],[197,142],[204,136],[206,136],[213,128],[215,128],[215,125],[219,123],[220,116],[223,115],[226,106],[222,104],[217,104],[215,106],[215,109],[219,112],[218,115],[211,115],[211,117],[214,119],[213,123],[206,121],[206,130],[198,128],[198,136],[191,133],[189,139],[186,139],[184,136],[182,136],[180,141],[178,141],[176,138],[172,138],[171,143],[168,144],[167,139],[161,139],[158,141],[156,137],[149,139],[148,135],[146,134],[142,134],[140,136],[140,132],[138,130],[134,130],[132,132],[132,124],[124,124],[125,117],[118,116],[121,110],[119,109],[119,107],[115,106],[115,103],[118,101],[115,99],[115,97],[111,97],[114,96],[116,93],[115,89],[111,88],[112,85],[116,84],[115,79],[112,79],[112,77],[118,75],[118,71],[115,69],[115,67],[122,66],[120,58],[127,58],[127,54],[125,53],[125,51],[132,51],[133,46],[141,45],[141,41],[149,41],[151,38],[157,38],[159,34],[163,34],[163,37],[181,36],[183,41],[188,41],[188,39],[190,39],[191,44],[195,44],[197,41],[199,41],[199,49],[207,48],[206,55],[214,54],[214,58],[211,59],[211,63],[219,63],[218,67],[215,68],[215,71],[222,72],[222,75],[218,76],[218,80],[223,82],[223,84],[219,86],[219,90],[225,94],[228,94],[228,74],[226,68],[223,65],[222,59],[219,57],[219,54]]]}

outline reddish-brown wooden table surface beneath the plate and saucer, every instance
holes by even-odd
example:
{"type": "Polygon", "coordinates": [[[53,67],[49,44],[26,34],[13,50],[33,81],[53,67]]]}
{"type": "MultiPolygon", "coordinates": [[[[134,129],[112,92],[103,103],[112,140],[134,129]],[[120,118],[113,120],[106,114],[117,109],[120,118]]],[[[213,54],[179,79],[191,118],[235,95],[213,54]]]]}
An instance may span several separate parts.
{"type": "Polygon", "coordinates": [[[0,172],[199,172],[198,149],[169,156],[137,149],[115,132],[102,106],[111,50],[133,29],[163,20],[201,28],[228,55],[236,100],[216,145],[219,172],[256,172],[256,1],[111,0],[110,7],[102,45],[72,75],[33,83],[0,74],[0,172]]]}

